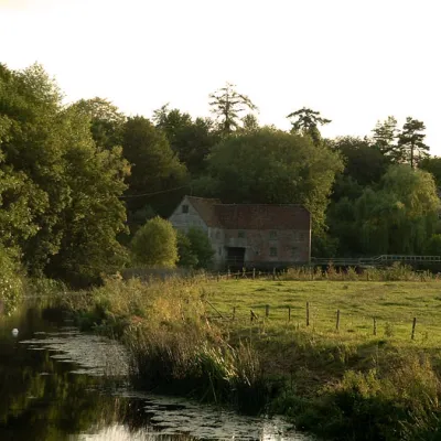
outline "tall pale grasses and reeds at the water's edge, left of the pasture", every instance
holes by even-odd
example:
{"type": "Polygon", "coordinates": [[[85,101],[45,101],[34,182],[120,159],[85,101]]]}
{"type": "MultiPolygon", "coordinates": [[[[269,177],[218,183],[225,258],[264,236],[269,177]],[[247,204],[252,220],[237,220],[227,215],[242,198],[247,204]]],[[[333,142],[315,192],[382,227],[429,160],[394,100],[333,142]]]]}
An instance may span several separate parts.
{"type": "Polygon", "coordinates": [[[77,299],[83,324],[121,338],[137,387],[229,404],[256,413],[268,400],[258,354],[249,344],[228,344],[207,320],[205,284],[200,278],[122,281],[77,299]]]}

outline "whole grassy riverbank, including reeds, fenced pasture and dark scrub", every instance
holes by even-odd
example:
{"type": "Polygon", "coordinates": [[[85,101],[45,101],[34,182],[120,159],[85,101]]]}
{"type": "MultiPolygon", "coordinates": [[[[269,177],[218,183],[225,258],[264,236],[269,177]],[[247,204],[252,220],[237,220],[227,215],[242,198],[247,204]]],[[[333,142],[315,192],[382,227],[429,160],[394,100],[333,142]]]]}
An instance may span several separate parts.
{"type": "Polygon", "coordinates": [[[80,325],[125,342],[146,389],[280,412],[327,439],[434,440],[440,288],[111,279],[63,302],[80,325]]]}

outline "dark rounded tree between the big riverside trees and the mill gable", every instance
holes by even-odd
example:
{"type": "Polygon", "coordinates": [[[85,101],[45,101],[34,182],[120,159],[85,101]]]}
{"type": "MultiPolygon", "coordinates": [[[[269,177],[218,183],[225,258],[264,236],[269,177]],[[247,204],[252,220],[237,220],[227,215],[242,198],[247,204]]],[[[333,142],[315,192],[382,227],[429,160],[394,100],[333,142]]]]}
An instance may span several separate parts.
{"type": "Polygon", "coordinates": [[[172,190],[187,183],[187,171],[170,148],[165,135],[143,117],[128,118],[122,132],[122,149],[131,164],[126,194],[129,218],[146,204],[166,216],[182,198],[184,190],[172,190]]]}

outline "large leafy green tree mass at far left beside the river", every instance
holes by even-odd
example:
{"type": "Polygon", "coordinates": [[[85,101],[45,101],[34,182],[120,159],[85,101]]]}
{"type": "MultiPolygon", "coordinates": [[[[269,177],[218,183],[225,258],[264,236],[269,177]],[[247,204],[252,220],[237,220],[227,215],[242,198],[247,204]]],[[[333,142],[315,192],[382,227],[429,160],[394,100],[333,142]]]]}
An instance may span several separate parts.
{"type": "Polygon", "coordinates": [[[33,275],[80,272],[90,282],[119,266],[129,171],[120,150],[96,147],[88,117],[63,106],[39,65],[0,66],[0,111],[3,243],[20,249],[33,275]]]}

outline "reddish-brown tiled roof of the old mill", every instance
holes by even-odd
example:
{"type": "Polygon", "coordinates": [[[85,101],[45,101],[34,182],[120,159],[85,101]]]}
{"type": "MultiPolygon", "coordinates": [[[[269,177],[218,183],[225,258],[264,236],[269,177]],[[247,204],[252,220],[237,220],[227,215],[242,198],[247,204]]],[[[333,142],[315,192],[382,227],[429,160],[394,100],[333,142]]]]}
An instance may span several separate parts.
{"type": "Polygon", "coordinates": [[[225,229],[310,229],[310,212],[301,205],[222,204],[186,196],[208,227],[225,229]]]}

